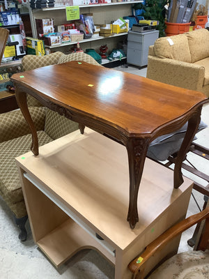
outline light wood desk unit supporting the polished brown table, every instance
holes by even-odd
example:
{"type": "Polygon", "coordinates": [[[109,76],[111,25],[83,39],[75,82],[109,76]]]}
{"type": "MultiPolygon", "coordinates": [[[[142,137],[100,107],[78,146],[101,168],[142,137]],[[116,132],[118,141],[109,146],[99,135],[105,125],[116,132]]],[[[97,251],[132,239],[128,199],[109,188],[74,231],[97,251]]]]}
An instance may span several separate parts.
{"type": "MultiPolygon", "coordinates": [[[[147,159],[139,188],[139,223],[126,220],[129,174],[125,146],[91,129],[79,130],[17,158],[33,239],[58,267],[85,248],[115,266],[115,279],[131,279],[127,264],[157,236],[185,218],[192,181],[173,189],[173,172],[147,159]],[[152,172],[152,175],[150,175],[152,172]],[[96,237],[99,234],[102,239],[96,237]]],[[[180,238],[151,259],[178,250],[180,238]]]]}

